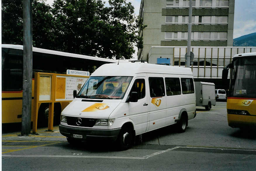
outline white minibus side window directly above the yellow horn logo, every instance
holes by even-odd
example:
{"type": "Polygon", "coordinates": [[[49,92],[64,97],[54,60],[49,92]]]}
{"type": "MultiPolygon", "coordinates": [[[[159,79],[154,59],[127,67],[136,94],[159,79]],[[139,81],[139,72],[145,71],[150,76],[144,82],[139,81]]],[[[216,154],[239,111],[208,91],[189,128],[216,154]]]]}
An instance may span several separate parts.
{"type": "Polygon", "coordinates": [[[150,97],[163,97],[165,96],[164,78],[162,77],[149,77],[149,91],[150,97]]]}

